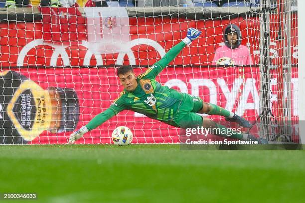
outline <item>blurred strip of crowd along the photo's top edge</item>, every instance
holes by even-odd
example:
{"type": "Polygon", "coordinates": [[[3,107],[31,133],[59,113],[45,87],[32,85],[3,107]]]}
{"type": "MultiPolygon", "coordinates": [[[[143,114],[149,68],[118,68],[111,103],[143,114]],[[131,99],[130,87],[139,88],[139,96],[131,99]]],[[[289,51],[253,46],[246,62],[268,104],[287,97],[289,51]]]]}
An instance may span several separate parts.
{"type": "MultiPolygon", "coordinates": [[[[263,0],[265,1],[265,0],[263,0]]],[[[277,5],[278,0],[266,0],[270,5],[277,5]]],[[[259,6],[261,0],[0,0],[0,7],[158,7],[158,6],[200,6],[200,7],[233,7],[259,6]]],[[[298,0],[291,0],[297,6],[298,0]]]]}

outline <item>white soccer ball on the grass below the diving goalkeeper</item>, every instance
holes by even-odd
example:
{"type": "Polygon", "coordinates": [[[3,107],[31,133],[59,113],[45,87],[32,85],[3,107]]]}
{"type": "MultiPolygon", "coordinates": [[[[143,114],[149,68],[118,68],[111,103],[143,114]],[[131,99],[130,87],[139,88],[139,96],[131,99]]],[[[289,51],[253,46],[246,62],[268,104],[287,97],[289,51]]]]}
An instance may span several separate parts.
{"type": "Polygon", "coordinates": [[[133,133],[126,126],[119,126],[112,132],[112,140],[119,146],[129,145],[133,141],[133,133]]]}

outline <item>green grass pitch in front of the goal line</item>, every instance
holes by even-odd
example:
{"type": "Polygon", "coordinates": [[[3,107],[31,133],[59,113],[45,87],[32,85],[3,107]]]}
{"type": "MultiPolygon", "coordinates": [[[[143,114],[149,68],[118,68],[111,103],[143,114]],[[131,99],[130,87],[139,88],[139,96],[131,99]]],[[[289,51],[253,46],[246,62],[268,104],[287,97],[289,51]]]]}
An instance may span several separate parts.
{"type": "Polygon", "coordinates": [[[303,150],[0,146],[0,171],[0,193],[36,193],[28,203],[305,202],[303,150]]]}

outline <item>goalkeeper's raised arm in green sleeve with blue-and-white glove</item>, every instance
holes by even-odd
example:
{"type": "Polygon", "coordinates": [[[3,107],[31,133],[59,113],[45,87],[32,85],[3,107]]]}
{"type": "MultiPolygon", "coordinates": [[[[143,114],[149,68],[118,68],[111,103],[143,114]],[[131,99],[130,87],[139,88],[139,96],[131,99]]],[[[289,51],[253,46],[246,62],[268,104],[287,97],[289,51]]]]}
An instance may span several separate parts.
{"type": "Polygon", "coordinates": [[[189,46],[193,40],[197,39],[201,31],[195,28],[188,28],[186,37],[177,45],[172,47],[159,61],[152,65],[144,74],[140,75],[139,78],[150,78],[154,79],[185,47],[189,46]]]}

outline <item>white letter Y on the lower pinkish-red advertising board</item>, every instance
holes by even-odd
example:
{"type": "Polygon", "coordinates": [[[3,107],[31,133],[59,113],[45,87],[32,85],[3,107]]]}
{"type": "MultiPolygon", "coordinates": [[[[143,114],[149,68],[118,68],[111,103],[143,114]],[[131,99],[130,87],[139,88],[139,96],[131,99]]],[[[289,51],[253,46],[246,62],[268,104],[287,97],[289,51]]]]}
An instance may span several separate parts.
{"type": "Polygon", "coordinates": [[[238,93],[239,93],[238,90],[240,89],[240,86],[243,83],[243,79],[235,79],[235,81],[233,83],[233,86],[232,86],[232,89],[231,89],[231,92],[230,92],[230,90],[229,90],[229,88],[228,88],[224,79],[218,78],[217,83],[218,83],[219,87],[221,88],[221,90],[223,92],[223,95],[225,96],[225,98],[227,100],[225,109],[227,109],[229,111],[232,111],[233,107],[234,107],[234,103],[235,103],[236,98],[237,98],[238,93]]]}

